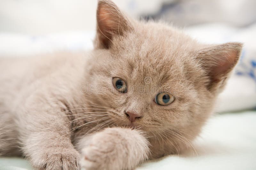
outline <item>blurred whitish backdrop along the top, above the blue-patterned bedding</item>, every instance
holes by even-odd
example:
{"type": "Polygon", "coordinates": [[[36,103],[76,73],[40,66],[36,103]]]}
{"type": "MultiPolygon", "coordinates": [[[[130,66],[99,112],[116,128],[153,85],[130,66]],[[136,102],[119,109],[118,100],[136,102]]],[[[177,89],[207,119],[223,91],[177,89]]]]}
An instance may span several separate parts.
{"type": "MultiPolygon", "coordinates": [[[[256,21],[254,0],[113,0],[132,17],[164,19],[180,27],[226,23],[236,27],[256,21]]],[[[0,31],[47,34],[94,31],[97,0],[1,0],[0,31]]]]}

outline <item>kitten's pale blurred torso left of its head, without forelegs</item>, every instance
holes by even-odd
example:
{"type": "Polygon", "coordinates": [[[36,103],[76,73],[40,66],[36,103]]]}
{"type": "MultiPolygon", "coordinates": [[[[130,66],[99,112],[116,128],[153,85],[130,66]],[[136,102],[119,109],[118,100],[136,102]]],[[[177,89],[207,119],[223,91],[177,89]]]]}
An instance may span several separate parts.
{"type": "MultiPolygon", "coordinates": [[[[76,60],[70,58],[70,54],[68,53],[57,53],[54,55],[45,54],[32,58],[1,59],[0,71],[4,74],[1,74],[0,76],[0,114],[1,117],[4,117],[4,119],[2,119],[4,121],[1,122],[1,129],[5,129],[2,132],[2,138],[15,138],[16,145],[19,145],[20,140],[17,140],[17,137],[20,134],[20,132],[18,132],[19,129],[27,128],[30,124],[29,122],[26,122],[27,120],[22,119],[24,116],[23,110],[29,110],[36,107],[46,108],[47,106],[44,106],[44,104],[51,105],[52,103],[56,103],[60,105],[56,111],[61,111],[61,108],[65,107],[64,100],[68,100],[65,98],[65,95],[68,95],[68,98],[70,98],[69,96],[74,94],[71,89],[76,85],[78,87],[77,93],[82,95],[79,93],[79,81],[84,81],[84,78],[81,79],[81,77],[85,71],[84,65],[86,63],[86,58],[84,54],[73,53],[71,56],[75,57],[76,60]],[[76,65],[76,67],[74,67],[74,65],[76,65]],[[79,72],[76,73],[72,69],[77,69],[79,72]],[[72,75],[72,73],[75,74],[72,75]],[[55,86],[55,88],[53,86],[55,86]],[[47,97],[55,96],[54,93],[56,93],[56,98],[52,99],[52,101],[51,98],[48,100],[47,97]],[[36,101],[34,98],[36,96],[39,97],[39,101],[36,101]],[[59,98],[57,96],[59,96],[59,98]],[[29,102],[35,102],[35,105],[27,105],[29,102]],[[40,103],[42,103],[42,106],[40,106],[40,103]],[[8,133],[5,133],[7,129],[8,131],[15,130],[15,134],[9,135],[8,133]]],[[[79,95],[70,100],[77,100],[74,101],[77,103],[80,100],[79,95]]],[[[63,115],[64,114],[65,113],[63,113],[63,115]]],[[[38,116],[39,117],[37,118],[40,119],[40,114],[38,116]]],[[[42,119],[44,118],[42,117],[42,119]]],[[[53,124],[58,124],[58,119],[55,121],[56,122],[53,122],[53,124]]],[[[21,131],[25,132],[26,129],[22,129],[21,131]]],[[[6,142],[3,142],[2,145],[6,145],[6,142]]],[[[10,149],[12,149],[12,147],[10,147],[10,149]]],[[[3,153],[12,152],[7,148],[8,147],[5,148],[5,152],[3,153]]],[[[13,149],[16,151],[20,150],[16,147],[13,149]]]]}

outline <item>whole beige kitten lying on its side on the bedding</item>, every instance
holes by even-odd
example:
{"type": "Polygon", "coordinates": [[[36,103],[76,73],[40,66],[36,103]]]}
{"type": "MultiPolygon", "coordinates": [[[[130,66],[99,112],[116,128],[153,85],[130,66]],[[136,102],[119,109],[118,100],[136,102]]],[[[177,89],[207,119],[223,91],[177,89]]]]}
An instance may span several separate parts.
{"type": "Polygon", "coordinates": [[[1,59],[0,114],[36,169],[133,169],[192,147],[242,48],[127,18],[109,0],[98,2],[94,45],[1,59]]]}

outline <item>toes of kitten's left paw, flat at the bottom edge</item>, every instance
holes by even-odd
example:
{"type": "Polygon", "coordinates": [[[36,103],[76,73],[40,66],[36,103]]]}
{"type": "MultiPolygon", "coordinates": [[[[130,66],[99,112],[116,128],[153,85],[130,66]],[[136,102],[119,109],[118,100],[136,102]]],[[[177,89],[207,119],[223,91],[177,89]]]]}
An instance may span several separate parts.
{"type": "Polygon", "coordinates": [[[80,170],[79,161],[80,155],[75,149],[53,149],[31,158],[32,165],[40,170],[80,170]]]}

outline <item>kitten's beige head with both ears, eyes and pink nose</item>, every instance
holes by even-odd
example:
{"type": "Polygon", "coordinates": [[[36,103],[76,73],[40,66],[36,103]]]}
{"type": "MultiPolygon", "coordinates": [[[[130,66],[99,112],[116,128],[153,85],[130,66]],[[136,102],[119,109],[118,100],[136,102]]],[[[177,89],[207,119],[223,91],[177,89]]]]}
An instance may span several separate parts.
{"type": "Polygon", "coordinates": [[[242,44],[203,45],[163,23],[127,18],[100,0],[90,85],[118,125],[198,133],[236,65],[242,44]],[[103,87],[103,88],[102,88],[103,87]]]}

